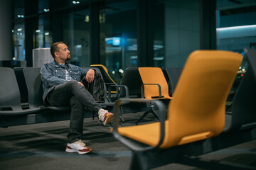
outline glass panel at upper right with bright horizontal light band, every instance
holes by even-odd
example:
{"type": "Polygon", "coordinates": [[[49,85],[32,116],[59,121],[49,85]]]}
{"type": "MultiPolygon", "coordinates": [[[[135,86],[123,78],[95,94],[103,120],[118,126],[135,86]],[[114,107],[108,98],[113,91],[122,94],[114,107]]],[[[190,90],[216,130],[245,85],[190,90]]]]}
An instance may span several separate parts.
{"type": "MultiPolygon", "coordinates": [[[[243,55],[241,67],[231,91],[238,89],[247,69],[245,48],[256,48],[256,1],[217,1],[217,50],[239,52],[243,55]]],[[[228,102],[235,93],[230,93],[228,102]]]]}

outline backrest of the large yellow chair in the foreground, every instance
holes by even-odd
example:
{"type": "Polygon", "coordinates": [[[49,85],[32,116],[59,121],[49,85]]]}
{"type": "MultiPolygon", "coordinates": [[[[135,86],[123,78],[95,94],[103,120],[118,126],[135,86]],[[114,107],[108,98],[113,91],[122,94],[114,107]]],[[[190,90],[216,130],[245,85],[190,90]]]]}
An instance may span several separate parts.
{"type": "Polygon", "coordinates": [[[225,101],[242,55],[198,50],[189,55],[169,103],[163,146],[183,145],[220,134],[225,125],[225,101]]]}

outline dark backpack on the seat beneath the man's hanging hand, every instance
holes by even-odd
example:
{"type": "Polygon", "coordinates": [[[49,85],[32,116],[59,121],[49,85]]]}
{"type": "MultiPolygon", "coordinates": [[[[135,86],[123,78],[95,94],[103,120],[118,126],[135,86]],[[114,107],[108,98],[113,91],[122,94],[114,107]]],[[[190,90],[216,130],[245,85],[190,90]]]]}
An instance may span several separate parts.
{"type": "Polygon", "coordinates": [[[82,84],[84,84],[85,89],[92,94],[97,103],[104,103],[104,80],[101,77],[99,72],[95,71],[95,78],[91,83],[88,83],[85,80],[85,77],[82,79],[82,84]]]}

